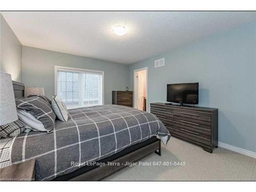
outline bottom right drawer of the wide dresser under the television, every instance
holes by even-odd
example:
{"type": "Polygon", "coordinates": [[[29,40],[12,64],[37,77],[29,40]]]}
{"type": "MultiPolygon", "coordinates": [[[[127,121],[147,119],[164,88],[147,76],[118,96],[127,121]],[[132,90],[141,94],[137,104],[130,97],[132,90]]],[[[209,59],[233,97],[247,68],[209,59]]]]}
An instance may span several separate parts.
{"type": "Polygon", "coordinates": [[[201,133],[198,130],[190,129],[189,127],[183,127],[179,125],[174,125],[174,133],[179,135],[183,139],[192,139],[204,144],[211,144],[211,135],[201,133]]]}

